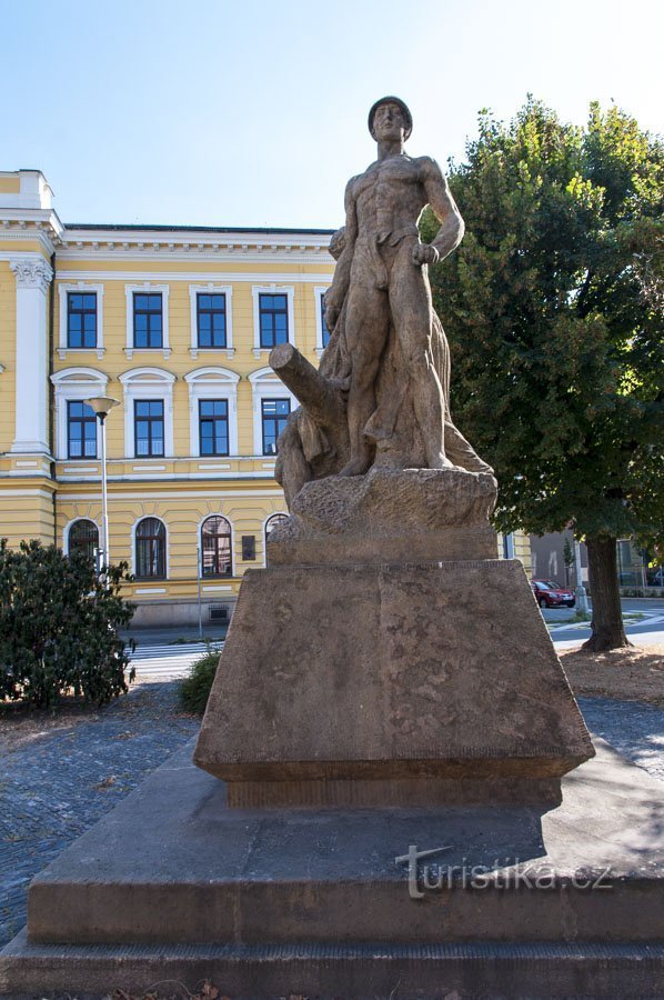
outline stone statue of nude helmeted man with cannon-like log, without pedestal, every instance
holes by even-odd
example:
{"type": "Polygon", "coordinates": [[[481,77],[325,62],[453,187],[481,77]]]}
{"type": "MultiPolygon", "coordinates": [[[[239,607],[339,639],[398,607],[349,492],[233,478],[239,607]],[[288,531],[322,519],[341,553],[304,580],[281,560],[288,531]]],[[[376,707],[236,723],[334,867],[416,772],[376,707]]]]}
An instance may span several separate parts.
{"type": "Polygon", "coordinates": [[[372,467],[492,471],[450,416],[450,353],[427,277],[427,264],[459,246],[463,220],[437,163],[405,154],[412,118],[403,101],[376,101],[369,129],[378,160],[349,181],[345,227],[330,244],[338,267],[320,370],[290,344],[270,359],[302,403],[279,442],[289,507],[312,479],[372,467]],[[441,222],[431,244],[417,230],[426,204],[441,222]]]}

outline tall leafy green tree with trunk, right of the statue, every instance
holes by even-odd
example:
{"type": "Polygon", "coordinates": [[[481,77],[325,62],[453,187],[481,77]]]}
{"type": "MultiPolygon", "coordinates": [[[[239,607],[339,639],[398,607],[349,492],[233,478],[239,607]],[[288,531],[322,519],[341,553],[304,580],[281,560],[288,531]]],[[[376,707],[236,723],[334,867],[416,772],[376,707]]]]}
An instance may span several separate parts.
{"type": "MultiPolygon", "coordinates": [[[[529,98],[480,116],[450,183],[466,223],[432,269],[455,419],[495,468],[496,526],[569,523],[588,551],[591,649],[627,643],[616,539],[664,523],[663,147],[617,108],[565,124],[529,98]]],[[[423,218],[423,236],[432,231],[423,218]]]]}

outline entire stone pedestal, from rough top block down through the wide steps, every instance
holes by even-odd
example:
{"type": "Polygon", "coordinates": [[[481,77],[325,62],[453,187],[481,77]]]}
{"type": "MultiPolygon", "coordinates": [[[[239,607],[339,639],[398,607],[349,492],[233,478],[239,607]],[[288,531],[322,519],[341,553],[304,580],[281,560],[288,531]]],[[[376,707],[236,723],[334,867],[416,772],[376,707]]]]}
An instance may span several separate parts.
{"type": "Polygon", "coordinates": [[[198,767],[33,881],[0,991],[657,996],[661,787],[590,759],[523,568],[490,558],[492,477],[330,486],[243,579],[198,767]]]}

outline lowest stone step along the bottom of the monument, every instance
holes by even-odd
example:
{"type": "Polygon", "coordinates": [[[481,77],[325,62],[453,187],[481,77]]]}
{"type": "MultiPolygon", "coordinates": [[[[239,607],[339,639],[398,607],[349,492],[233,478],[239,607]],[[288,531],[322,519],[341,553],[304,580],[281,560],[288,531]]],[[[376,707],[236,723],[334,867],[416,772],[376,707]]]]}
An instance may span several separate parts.
{"type": "Polygon", "coordinates": [[[197,992],[210,980],[233,998],[657,998],[664,944],[28,944],[0,958],[0,990],[103,997],[197,992]],[[155,986],[158,984],[159,986],[155,986]]]}

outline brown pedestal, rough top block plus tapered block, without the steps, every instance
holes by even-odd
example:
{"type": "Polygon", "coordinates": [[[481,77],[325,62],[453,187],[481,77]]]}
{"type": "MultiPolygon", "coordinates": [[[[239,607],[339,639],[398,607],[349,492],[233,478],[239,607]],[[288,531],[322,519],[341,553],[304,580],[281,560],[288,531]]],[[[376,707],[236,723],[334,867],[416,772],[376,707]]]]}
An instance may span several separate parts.
{"type": "Polygon", "coordinates": [[[195,750],[230,806],[560,801],[593,748],[523,567],[449,554],[495,557],[494,502],[461,470],[304,487],[244,576],[195,750]]]}

